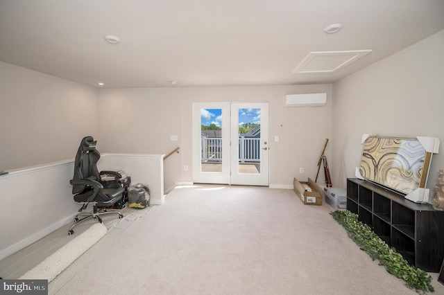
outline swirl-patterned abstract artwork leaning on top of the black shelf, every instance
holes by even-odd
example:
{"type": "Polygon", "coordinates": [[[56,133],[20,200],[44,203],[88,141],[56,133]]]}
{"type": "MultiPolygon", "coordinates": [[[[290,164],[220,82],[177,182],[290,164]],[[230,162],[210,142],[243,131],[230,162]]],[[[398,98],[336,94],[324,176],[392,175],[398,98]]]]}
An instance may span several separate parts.
{"type": "Polygon", "coordinates": [[[408,195],[425,188],[431,159],[417,139],[369,136],[359,172],[364,179],[408,195]]]}

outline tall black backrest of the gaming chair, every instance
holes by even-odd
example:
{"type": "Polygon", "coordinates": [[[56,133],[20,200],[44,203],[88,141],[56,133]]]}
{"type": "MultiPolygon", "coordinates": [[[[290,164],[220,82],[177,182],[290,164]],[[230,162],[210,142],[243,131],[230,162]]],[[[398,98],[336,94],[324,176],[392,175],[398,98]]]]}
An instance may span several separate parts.
{"type": "MultiPolygon", "coordinates": [[[[97,161],[100,159],[100,153],[96,150],[96,143],[92,136],[85,136],[78,147],[76,160],[74,161],[74,180],[89,179],[101,181],[97,161]]],[[[85,190],[85,184],[74,184],[72,193],[80,193],[85,190]]]]}

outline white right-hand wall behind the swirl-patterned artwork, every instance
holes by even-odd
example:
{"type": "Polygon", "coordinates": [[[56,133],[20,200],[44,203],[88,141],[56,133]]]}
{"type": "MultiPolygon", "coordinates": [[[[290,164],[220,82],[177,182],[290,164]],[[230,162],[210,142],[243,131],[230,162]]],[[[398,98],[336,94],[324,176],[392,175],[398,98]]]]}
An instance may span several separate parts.
{"type": "Polygon", "coordinates": [[[333,84],[333,184],[345,187],[361,159],[362,134],[434,136],[427,188],[444,169],[444,30],[333,84]]]}

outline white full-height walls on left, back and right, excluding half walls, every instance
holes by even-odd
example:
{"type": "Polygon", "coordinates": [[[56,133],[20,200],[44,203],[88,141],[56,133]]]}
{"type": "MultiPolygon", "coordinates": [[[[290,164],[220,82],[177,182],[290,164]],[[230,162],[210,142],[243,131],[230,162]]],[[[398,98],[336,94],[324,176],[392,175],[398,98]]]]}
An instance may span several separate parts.
{"type": "MultiPolygon", "coordinates": [[[[443,43],[441,31],[333,85],[98,91],[0,62],[0,170],[71,159],[80,139],[92,135],[101,152],[167,154],[180,145],[180,154],[164,163],[169,188],[192,181],[192,171],[183,170],[191,167],[192,102],[268,101],[270,139],[280,136],[279,143],[271,141],[270,183],[315,177],[318,153],[330,138],[332,180],[345,186],[359,163],[364,133],[443,140],[443,43]],[[326,107],[284,107],[285,94],[318,91],[327,91],[326,107]],[[179,140],[170,141],[172,134],[179,140]]],[[[442,152],[433,157],[430,188],[441,168],[442,152]]]]}

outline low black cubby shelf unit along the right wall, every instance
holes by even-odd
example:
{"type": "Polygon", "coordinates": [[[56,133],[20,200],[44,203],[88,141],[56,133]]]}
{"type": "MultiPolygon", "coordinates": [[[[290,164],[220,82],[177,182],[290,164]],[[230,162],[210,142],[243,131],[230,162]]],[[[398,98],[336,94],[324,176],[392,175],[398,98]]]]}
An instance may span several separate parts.
{"type": "Polygon", "coordinates": [[[439,272],[444,258],[444,212],[417,204],[370,181],[347,179],[347,210],[411,265],[439,272]]]}

